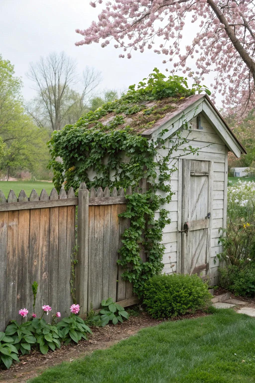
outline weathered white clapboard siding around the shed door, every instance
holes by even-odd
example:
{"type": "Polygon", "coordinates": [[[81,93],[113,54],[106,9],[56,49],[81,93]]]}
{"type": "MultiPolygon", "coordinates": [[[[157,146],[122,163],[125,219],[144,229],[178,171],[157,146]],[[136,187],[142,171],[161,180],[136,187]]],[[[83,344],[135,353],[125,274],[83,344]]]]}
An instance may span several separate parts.
{"type": "MultiPolygon", "coordinates": [[[[219,237],[221,236],[220,228],[226,227],[226,195],[227,195],[227,147],[218,136],[211,124],[206,118],[200,114],[201,126],[203,130],[197,129],[197,118],[190,120],[191,133],[188,135],[188,140],[193,147],[201,148],[199,155],[194,156],[188,154],[180,157],[176,166],[177,171],[173,173],[171,178],[172,191],[175,195],[172,201],[164,206],[170,211],[171,224],[167,225],[163,230],[162,243],[166,250],[163,257],[165,273],[180,272],[181,261],[181,236],[178,229],[181,229],[181,206],[182,206],[182,159],[191,160],[206,160],[212,161],[213,165],[213,195],[212,195],[212,211],[211,211],[211,257],[210,257],[210,278],[215,282],[215,277],[218,277],[219,260],[216,255],[221,252],[221,244],[219,237]],[[208,147],[209,145],[209,147],[208,147]],[[178,228],[178,229],[177,229],[178,228]],[[216,262],[216,263],[214,263],[216,262]]],[[[187,131],[184,131],[187,134],[187,131]]],[[[184,147],[187,144],[184,145],[184,147]]],[[[166,154],[167,149],[159,149],[161,154],[166,154]]],[[[180,147],[175,155],[183,155],[184,152],[180,147]]],[[[173,162],[172,162],[173,163],[173,162]]],[[[171,166],[171,164],[169,165],[171,166]]],[[[158,193],[162,196],[161,191],[158,193]]],[[[156,213],[156,216],[158,213],[156,213]]]]}

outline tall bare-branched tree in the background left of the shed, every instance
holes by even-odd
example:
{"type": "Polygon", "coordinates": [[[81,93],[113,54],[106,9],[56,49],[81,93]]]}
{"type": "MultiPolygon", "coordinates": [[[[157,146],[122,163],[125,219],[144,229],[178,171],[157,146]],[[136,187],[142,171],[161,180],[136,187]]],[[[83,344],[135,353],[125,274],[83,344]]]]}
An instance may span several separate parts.
{"type": "Polygon", "coordinates": [[[73,123],[86,112],[93,91],[101,81],[100,73],[89,67],[79,79],[76,62],[64,52],[51,53],[46,59],[41,57],[36,64],[31,63],[27,76],[36,84],[38,92],[28,111],[37,126],[49,126],[52,131],[73,123]],[[82,84],[81,93],[72,89],[77,82],[82,84]]]}

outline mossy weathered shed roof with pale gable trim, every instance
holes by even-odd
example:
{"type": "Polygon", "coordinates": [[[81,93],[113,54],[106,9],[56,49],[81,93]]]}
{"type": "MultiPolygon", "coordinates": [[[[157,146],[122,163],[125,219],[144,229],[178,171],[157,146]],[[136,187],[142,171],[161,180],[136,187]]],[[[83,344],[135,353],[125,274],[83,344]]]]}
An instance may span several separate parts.
{"type": "MultiPolygon", "coordinates": [[[[119,111],[117,106],[118,101],[116,101],[116,109],[113,107],[97,121],[89,122],[86,120],[86,128],[91,129],[97,123],[101,123],[105,126],[104,131],[107,132],[108,127],[110,131],[112,129],[121,130],[130,126],[134,133],[141,134],[148,139],[156,137],[162,129],[168,129],[163,136],[166,138],[180,129],[183,119],[190,121],[194,116],[202,113],[236,157],[246,154],[245,148],[206,94],[130,103],[126,104],[124,112],[119,111]],[[121,117],[122,122],[113,127],[116,116],[121,117]]],[[[81,123],[81,125],[83,124],[81,123]]]]}

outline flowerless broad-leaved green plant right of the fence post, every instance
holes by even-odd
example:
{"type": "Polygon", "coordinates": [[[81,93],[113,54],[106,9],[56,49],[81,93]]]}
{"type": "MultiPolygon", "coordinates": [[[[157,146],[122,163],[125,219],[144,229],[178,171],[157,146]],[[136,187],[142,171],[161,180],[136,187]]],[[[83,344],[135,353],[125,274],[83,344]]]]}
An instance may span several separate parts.
{"type": "Polygon", "coordinates": [[[112,298],[102,300],[101,306],[103,308],[99,311],[99,316],[102,327],[106,326],[106,324],[108,324],[110,321],[112,321],[113,324],[117,324],[118,322],[122,323],[123,318],[129,318],[127,311],[125,311],[124,308],[120,306],[120,304],[114,303],[112,298]]]}

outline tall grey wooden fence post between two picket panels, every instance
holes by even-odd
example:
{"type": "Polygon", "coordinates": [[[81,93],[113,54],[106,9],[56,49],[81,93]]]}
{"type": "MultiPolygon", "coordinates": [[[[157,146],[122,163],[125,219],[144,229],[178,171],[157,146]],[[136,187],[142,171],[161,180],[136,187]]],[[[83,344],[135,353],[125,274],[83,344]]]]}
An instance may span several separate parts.
{"type": "Polygon", "coordinates": [[[78,191],[78,264],[76,265],[76,297],[80,304],[79,314],[88,311],[88,246],[89,245],[89,191],[82,182],[78,191]]]}

